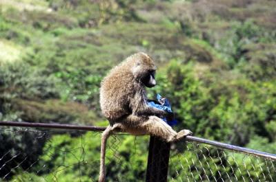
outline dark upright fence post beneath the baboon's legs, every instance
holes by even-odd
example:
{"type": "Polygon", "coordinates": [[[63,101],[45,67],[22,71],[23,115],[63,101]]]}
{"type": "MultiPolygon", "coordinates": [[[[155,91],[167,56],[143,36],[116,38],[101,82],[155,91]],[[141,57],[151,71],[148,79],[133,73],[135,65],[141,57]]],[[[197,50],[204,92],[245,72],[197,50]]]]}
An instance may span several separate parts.
{"type": "Polygon", "coordinates": [[[150,137],[146,182],[167,182],[170,143],[150,137]]]}

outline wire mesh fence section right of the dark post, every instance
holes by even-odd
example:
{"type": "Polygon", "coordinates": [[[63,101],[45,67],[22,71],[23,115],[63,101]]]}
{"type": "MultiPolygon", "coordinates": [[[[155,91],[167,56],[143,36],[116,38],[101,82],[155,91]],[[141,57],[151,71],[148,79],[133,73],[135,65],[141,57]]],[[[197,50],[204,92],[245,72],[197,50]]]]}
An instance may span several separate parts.
{"type": "Polygon", "coordinates": [[[276,161],[196,142],[170,155],[169,181],[275,181],[276,161]]]}

